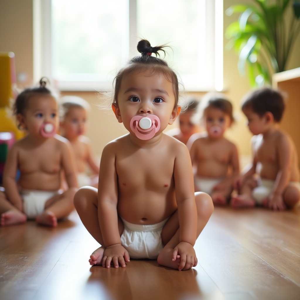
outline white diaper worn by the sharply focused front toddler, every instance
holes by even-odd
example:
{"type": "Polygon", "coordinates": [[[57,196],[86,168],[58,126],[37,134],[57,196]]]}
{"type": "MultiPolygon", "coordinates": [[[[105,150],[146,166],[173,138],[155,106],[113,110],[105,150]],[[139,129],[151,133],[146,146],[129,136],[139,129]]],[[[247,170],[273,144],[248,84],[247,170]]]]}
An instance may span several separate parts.
{"type": "Polygon", "coordinates": [[[122,246],[133,259],[156,259],[163,249],[161,232],[168,219],[150,225],[132,224],[122,219],[124,231],[121,235],[122,246]]]}

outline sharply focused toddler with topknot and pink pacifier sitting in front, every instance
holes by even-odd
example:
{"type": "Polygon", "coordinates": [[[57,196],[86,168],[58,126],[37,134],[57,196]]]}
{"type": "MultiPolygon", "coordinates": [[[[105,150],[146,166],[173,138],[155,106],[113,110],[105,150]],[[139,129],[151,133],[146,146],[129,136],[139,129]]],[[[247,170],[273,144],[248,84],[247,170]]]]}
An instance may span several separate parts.
{"type": "Polygon", "coordinates": [[[197,264],[193,246],[213,203],[194,193],[187,147],[163,133],[180,113],[177,76],[152,56],[163,48],[140,41],[141,55],[118,72],[112,109],[129,133],[104,147],[98,189],[75,194],[82,223],[101,245],[90,265],[124,268],[130,258],[177,270],[197,264]]]}

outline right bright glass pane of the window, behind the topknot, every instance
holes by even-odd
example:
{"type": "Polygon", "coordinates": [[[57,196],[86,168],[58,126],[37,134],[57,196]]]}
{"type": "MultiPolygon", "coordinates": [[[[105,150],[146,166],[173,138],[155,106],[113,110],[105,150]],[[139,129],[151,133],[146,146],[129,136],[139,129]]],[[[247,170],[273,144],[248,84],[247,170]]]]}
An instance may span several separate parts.
{"type": "Polygon", "coordinates": [[[137,34],[152,46],[167,42],[171,66],[196,75],[205,65],[205,0],[137,0],[137,34]]]}

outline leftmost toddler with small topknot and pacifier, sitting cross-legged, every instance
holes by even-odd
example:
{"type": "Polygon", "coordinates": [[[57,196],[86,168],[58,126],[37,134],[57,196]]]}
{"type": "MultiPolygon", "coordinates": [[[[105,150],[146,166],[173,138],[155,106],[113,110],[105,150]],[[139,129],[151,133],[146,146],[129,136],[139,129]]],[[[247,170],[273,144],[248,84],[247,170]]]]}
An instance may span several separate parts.
{"type": "Polygon", "coordinates": [[[55,227],[58,219],[74,209],[77,190],[70,143],[56,134],[57,100],[42,78],[40,87],[27,88],[18,95],[13,112],[18,127],[27,135],[14,143],[7,155],[5,191],[0,192],[1,226],[35,219],[38,224],[55,227]],[[64,193],[60,190],[61,171],[68,185],[64,193]]]}

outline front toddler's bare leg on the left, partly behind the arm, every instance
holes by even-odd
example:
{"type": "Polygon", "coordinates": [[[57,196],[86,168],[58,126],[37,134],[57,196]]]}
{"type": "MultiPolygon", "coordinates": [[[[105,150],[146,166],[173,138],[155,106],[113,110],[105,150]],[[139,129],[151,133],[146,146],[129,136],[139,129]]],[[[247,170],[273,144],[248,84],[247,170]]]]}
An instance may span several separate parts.
{"type": "MultiPolygon", "coordinates": [[[[104,242],[101,235],[101,230],[98,220],[98,190],[95,187],[81,187],[74,196],[74,205],[79,214],[79,217],[96,241],[101,244],[101,247],[96,249],[90,256],[90,265],[102,265],[103,253],[105,250],[104,242]]],[[[122,221],[119,219],[120,235],[124,230],[122,221]]]]}

